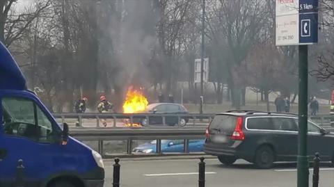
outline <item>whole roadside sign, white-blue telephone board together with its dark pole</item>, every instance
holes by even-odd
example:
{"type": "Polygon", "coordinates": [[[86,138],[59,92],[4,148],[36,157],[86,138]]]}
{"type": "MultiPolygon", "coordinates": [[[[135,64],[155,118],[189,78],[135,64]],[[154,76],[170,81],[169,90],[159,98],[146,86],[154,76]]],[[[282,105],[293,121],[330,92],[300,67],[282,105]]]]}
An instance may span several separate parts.
{"type": "Polygon", "coordinates": [[[276,0],[276,45],[299,45],[297,186],[308,187],[308,45],[318,42],[319,0],[276,0]]]}

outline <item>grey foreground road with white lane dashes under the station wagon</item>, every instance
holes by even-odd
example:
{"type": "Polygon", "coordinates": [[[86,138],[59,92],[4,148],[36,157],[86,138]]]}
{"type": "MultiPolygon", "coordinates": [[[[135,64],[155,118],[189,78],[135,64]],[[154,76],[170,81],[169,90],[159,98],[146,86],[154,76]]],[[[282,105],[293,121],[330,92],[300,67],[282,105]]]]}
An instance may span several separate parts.
{"type": "MultiPolygon", "coordinates": [[[[198,186],[198,159],[120,161],[121,187],[195,187],[198,186]]],[[[293,187],[296,186],[296,164],[280,163],[273,169],[258,170],[246,161],[237,161],[233,167],[224,166],[216,158],[205,160],[206,186],[209,187],[293,187]]],[[[113,162],[104,162],[105,187],[112,186],[113,162]]],[[[334,168],[321,164],[321,187],[334,186],[334,168]]],[[[310,170],[310,186],[312,170],[310,170]]]]}

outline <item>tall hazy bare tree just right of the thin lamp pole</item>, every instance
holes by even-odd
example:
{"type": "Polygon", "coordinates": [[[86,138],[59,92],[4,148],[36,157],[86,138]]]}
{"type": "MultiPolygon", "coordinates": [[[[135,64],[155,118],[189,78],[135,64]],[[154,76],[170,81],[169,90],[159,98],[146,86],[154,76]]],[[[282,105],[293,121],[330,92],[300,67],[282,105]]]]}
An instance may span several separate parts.
{"type": "Polygon", "coordinates": [[[228,87],[232,96],[232,104],[239,109],[241,92],[245,91],[246,86],[242,81],[235,79],[238,75],[233,71],[241,68],[241,63],[248,55],[252,45],[259,40],[267,11],[265,11],[264,1],[220,0],[220,2],[220,6],[214,13],[221,27],[215,30],[219,32],[217,34],[222,38],[221,41],[225,43],[229,54],[225,65],[228,70],[228,87]]]}

